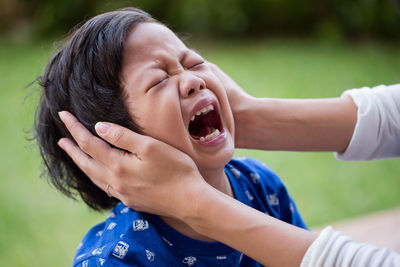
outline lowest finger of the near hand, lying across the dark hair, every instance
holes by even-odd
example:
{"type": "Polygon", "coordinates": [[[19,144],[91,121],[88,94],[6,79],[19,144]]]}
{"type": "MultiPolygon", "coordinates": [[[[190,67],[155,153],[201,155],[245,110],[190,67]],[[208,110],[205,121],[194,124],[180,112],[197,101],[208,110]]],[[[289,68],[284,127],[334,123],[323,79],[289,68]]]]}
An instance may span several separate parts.
{"type": "MultiPolygon", "coordinates": [[[[106,183],[107,170],[104,165],[89,157],[83,152],[72,140],[61,138],[58,141],[58,146],[63,149],[73,162],[92,180],[97,186],[103,186],[106,183]],[[92,177],[95,177],[93,179],[92,177]]],[[[100,187],[102,188],[102,187],[100,187]]]]}

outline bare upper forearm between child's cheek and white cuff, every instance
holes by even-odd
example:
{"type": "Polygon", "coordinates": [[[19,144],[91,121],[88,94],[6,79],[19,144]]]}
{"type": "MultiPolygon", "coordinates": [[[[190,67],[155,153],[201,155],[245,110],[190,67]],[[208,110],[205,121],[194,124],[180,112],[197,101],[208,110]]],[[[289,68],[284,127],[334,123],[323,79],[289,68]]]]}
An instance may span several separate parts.
{"type": "Polygon", "coordinates": [[[357,120],[357,107],[350,97],[246,97],[233,109],[236,146],[252,149],[342,152],[357,120]]]}

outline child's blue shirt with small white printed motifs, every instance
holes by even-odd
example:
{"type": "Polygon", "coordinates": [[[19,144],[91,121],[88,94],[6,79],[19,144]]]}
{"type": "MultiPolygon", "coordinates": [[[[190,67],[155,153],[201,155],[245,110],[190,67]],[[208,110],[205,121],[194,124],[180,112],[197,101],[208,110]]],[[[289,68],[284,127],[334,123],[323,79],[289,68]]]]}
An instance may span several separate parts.
{"type": "MultiPolygon", "coordinates": [[[[282,181],[265,164],[250,158],[233,159],[225,166],[225,172],[237,200],[306,228],[282,181]]],[[[86,234],[73,265],[262,266],[220,242],[189,238],[158,216],[135,211],[122,203],[86,234]]]]}

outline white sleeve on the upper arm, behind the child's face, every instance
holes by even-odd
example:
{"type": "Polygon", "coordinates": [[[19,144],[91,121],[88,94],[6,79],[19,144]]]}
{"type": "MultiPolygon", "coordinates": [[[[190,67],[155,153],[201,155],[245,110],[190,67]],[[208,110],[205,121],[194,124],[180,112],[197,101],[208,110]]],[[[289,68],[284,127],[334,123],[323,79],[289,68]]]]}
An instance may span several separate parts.
{"type": "Polygon", "coordinates": [[[357,123],[340,160],[371,160],[400,156],[400,84],[351,89],[358,107],[357,123]]]}

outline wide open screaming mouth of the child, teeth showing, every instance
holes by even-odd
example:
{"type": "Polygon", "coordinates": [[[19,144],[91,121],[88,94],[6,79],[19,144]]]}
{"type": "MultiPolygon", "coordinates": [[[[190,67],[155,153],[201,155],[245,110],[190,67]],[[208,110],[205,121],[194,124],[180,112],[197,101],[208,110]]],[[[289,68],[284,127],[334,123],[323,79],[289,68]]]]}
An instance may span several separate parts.
{"type": "Polygon", "coordinates": [[[209,141],[222,132],[222,123],[218,110],[208,105],[197,111],[189,123],[189,133],[200,142],[209,141]]]}

